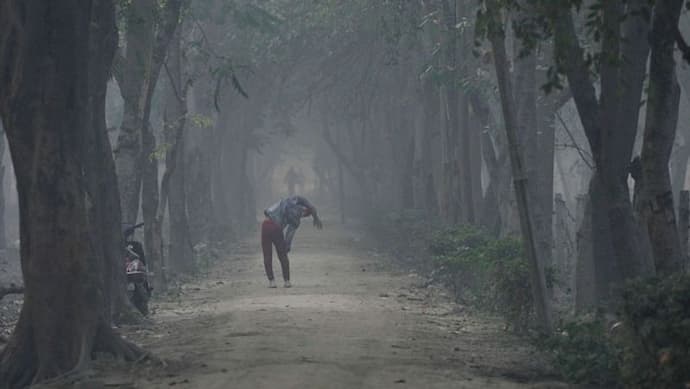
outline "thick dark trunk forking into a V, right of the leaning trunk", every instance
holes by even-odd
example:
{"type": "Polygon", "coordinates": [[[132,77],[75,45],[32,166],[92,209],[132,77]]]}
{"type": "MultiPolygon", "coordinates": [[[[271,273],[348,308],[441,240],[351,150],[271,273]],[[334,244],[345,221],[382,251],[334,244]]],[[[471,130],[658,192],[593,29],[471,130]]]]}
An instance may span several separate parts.
{"type": "Polygon", "coordinates": [[[648,52],[644,37],[648,24],[639,12],[645,3],[629,2],[627,11],[633,16],[622,25],[624,11],[619,3],[607,3],[603,9],[605,22],[615,32],[607,34],[603,50],[627,62],[626,66],[602,65],[600,100],[570,10],[554,4],[556,60],[565,70],[597,168],[590,184],[597,302],[608,299],[622,279],[648,271],[646,235],[634,219],[627,185],[648,52]]]}

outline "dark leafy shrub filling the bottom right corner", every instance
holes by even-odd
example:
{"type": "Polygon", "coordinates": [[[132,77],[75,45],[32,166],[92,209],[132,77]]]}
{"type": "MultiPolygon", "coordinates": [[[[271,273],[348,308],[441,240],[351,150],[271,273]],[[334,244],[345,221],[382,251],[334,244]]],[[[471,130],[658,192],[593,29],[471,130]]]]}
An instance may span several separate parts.
{"type": "Polygon", "coordinates": [[[614,325],[585,316],[544,342],[556,368],[576,383],[690,387],[690,276],[635,280],[620,296],[614,325]]]}

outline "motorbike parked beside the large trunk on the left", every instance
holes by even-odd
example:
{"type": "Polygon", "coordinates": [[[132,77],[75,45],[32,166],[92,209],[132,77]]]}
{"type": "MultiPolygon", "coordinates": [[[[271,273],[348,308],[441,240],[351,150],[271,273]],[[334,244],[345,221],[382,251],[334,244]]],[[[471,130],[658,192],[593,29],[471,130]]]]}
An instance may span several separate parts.
{"type": "Polygon", "coordinates": [[[125,272],[127,274],[127,295],[129,301],[146,316],[149,314],[149,299],[153,288],[149,283],[144,247],[134,240],[134,232],[144,223],[125,229],[125,272]]]}

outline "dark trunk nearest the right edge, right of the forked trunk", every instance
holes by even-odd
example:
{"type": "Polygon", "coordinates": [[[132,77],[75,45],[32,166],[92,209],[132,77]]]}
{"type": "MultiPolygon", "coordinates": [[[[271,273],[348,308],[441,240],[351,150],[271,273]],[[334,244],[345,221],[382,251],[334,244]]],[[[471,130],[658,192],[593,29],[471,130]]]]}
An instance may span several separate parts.
{"type": "Polygon", "coordinates": [[[640,214],[647,224],[654,262],[661,274],[677,273],[685,267],[668,170],[680,102],[673,55],[682,6],[682,0],[670,0],[658,2],[654,8],[647,123],[641,155],[640,214]]]}

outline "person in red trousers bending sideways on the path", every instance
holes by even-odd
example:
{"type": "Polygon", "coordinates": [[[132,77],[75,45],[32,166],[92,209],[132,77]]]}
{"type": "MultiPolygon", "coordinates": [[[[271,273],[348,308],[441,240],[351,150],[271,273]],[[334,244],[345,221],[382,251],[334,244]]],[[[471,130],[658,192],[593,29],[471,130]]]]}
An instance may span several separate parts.
{"type": "Polygon", "coordinates": [[[264,253],[264,267],[266,277],[268,277],[269,288],[275,288],[276,283],[273,276],[273,246],[280,260],[280,267],[283,271],[285,287],[290,284],[290,261],[287,254],[292,246],[292,238],[299,227],[300,219],[311,216],[314,219],[314,226],[319,230],[323,228],[321,219],[316,213],[316,207],[301,196],[291,196],[266,208],[264,211],[266,220],[261,225],[261,248],[264,253]]]}

